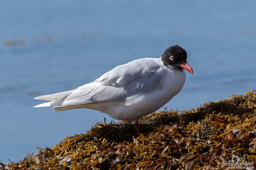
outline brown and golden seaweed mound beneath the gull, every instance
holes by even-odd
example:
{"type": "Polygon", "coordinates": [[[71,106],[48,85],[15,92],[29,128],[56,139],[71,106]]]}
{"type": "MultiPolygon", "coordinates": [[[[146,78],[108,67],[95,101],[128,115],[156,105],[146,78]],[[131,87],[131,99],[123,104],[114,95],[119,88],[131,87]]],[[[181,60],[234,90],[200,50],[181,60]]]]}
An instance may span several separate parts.
{"type": "MultiPolygon", "coordinates": [[[[193,110],[131,122],[97,122],[84,134],[38,148],[0,169],[238,169],[256,163],[256,88],[193,110]],[[220,164],[221,163],[221,164],[220,164]],[[228,167],[230,166],[230,167],[228,167]]],[[[255,168],[255,167],[253,167],[255,168]]]]}

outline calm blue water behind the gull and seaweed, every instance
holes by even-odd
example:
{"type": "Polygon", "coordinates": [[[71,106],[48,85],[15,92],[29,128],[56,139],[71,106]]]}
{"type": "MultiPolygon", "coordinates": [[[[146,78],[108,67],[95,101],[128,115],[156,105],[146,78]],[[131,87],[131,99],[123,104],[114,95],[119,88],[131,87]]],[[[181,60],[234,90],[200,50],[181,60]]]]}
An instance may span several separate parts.
{"type": "MultiPolygon", "coordinates": [[[[33,98],[89,83],[138,58],[186,49],[194,75],[165,106],[202,102],[256,87],[255,1],[1,1],[0,160],[111,121],[88,109],[33,108],[33,98]]],[[[163,109],[160,109],[163,110],[163,109]]]]}

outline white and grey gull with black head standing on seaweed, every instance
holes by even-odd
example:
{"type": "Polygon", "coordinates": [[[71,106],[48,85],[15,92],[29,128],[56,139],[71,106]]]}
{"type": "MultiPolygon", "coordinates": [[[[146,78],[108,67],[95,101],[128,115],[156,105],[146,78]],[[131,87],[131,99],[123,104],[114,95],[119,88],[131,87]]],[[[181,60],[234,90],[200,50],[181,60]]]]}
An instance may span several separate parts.
{"type": "Polygon", "coordinates": [[[163,107],[182,89],[187,70],[186,50],[179,45],[168,47],[160,58],[141,58],[115,67],[91,83],[60,93],[38,96],[49,100],[34,107],[53,110],[93,109],[116,120],[135,121],[163,107]]]}

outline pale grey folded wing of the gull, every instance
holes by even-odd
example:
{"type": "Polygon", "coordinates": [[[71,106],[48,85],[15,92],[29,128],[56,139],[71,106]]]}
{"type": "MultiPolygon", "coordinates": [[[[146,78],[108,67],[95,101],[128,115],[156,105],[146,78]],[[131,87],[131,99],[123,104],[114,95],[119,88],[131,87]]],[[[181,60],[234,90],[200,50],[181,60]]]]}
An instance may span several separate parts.
{"type": "Polygon", "coordinates": [[[143,58],[120,65],[62,99],[53,101],[51,106],[125,101],[130,96],[151,93],[161,88],[164,76],[157,60],[143,58]]]}

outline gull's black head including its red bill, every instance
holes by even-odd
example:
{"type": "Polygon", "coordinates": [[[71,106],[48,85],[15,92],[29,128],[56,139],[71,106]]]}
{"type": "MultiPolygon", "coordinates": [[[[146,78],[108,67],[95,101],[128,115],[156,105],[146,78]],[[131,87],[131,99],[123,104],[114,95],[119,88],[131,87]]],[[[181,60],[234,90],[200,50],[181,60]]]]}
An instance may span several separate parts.
{"type": "Polygon", "coordinates": [[[167,48],[161,56],[161,60],[166,67],[179,71],[185,69],[193,74],[193,70],[187,63],[187,52],[178,45],[167,48]]]}

